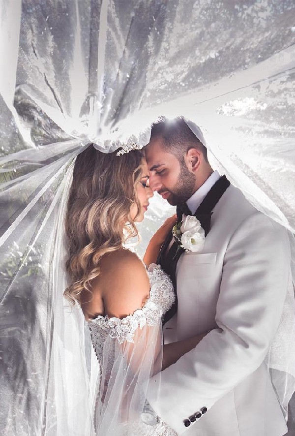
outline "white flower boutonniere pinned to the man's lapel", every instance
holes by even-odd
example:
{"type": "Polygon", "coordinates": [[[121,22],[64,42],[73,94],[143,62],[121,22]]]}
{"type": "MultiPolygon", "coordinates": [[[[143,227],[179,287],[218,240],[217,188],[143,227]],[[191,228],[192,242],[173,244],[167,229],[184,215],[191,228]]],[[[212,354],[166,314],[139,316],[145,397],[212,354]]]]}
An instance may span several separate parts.
{"type": "Polygon", "coordinates": [[[188,215],[178,222],[172,230],[178,245],[186,252],[201,251],[205,244],[205,230],[199,219],[188,215]]]}

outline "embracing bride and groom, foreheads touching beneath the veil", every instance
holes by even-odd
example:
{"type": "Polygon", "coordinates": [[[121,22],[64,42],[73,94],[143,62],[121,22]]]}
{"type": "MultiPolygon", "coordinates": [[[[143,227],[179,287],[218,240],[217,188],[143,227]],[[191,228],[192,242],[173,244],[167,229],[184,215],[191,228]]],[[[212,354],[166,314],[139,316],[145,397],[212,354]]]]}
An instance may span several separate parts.
{"type": "Polygon", "coordinates": [[[89,145],[76,158],[64,295],[100,365],[96,434],[282,436],[264,359],[286,298],[287,231],[213,171],[190,127],[160,118],[142,151],[89,145]],[[152,237],[147,271],[124,243],[154,191],[177,215],[152,237]]]}

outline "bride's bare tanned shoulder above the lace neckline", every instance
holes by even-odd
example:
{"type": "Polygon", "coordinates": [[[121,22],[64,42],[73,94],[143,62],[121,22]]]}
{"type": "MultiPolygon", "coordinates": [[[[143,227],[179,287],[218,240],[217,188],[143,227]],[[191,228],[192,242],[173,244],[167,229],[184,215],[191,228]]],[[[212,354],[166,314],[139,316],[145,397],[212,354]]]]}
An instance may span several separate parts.
{"type": "Polygon", "coordinates": [[[149,280],[144,263],[127,249],[103,256],[100,275],[93,294],[102,296],[104,314],[123,318],[141,309],[149,295],[149,280]]]}

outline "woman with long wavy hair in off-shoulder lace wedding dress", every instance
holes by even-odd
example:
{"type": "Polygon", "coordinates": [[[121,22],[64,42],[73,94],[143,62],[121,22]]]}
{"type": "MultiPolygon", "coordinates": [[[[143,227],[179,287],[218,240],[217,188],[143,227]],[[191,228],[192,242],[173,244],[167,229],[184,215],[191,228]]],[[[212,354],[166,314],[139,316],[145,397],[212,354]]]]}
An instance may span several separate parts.
{"type": "Polygon", "coordinates": [[[176,217],[151,239],[144,262],[124,244],[138,235],[153,192],[144,154],[104,154],[92,144],[77,156],[65,229],[64,296],[81,305],[99,363],[96,435],[176,435],[149,407],[149,378],[175,363],[204,337],[163,344],[162,315],[175,299],[172,282],[155,265],[176,217]],[[119,155],[119,156],[118,156],[119,155]]]}

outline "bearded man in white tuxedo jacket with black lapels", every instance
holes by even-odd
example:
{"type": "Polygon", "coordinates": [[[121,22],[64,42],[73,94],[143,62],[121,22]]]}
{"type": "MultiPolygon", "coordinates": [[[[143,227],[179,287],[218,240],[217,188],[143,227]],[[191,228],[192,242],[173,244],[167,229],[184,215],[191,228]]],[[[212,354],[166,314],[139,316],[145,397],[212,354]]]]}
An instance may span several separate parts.
{"type": "Polygon", "coordinates": [[[165,342],[208,332],[154,377],[148,402],[179,435],[282,436],[264,358],[286,298],[287,231],[213,171],[204,144],[198,127],[178,117],[155,122],[146,147],[150,187],[177,206],[179,223],[192,215],[204,229],[197,251],[195,240],[184,251],[172,235],[162,246],[158,261],[177,287],[165,342]]]}

